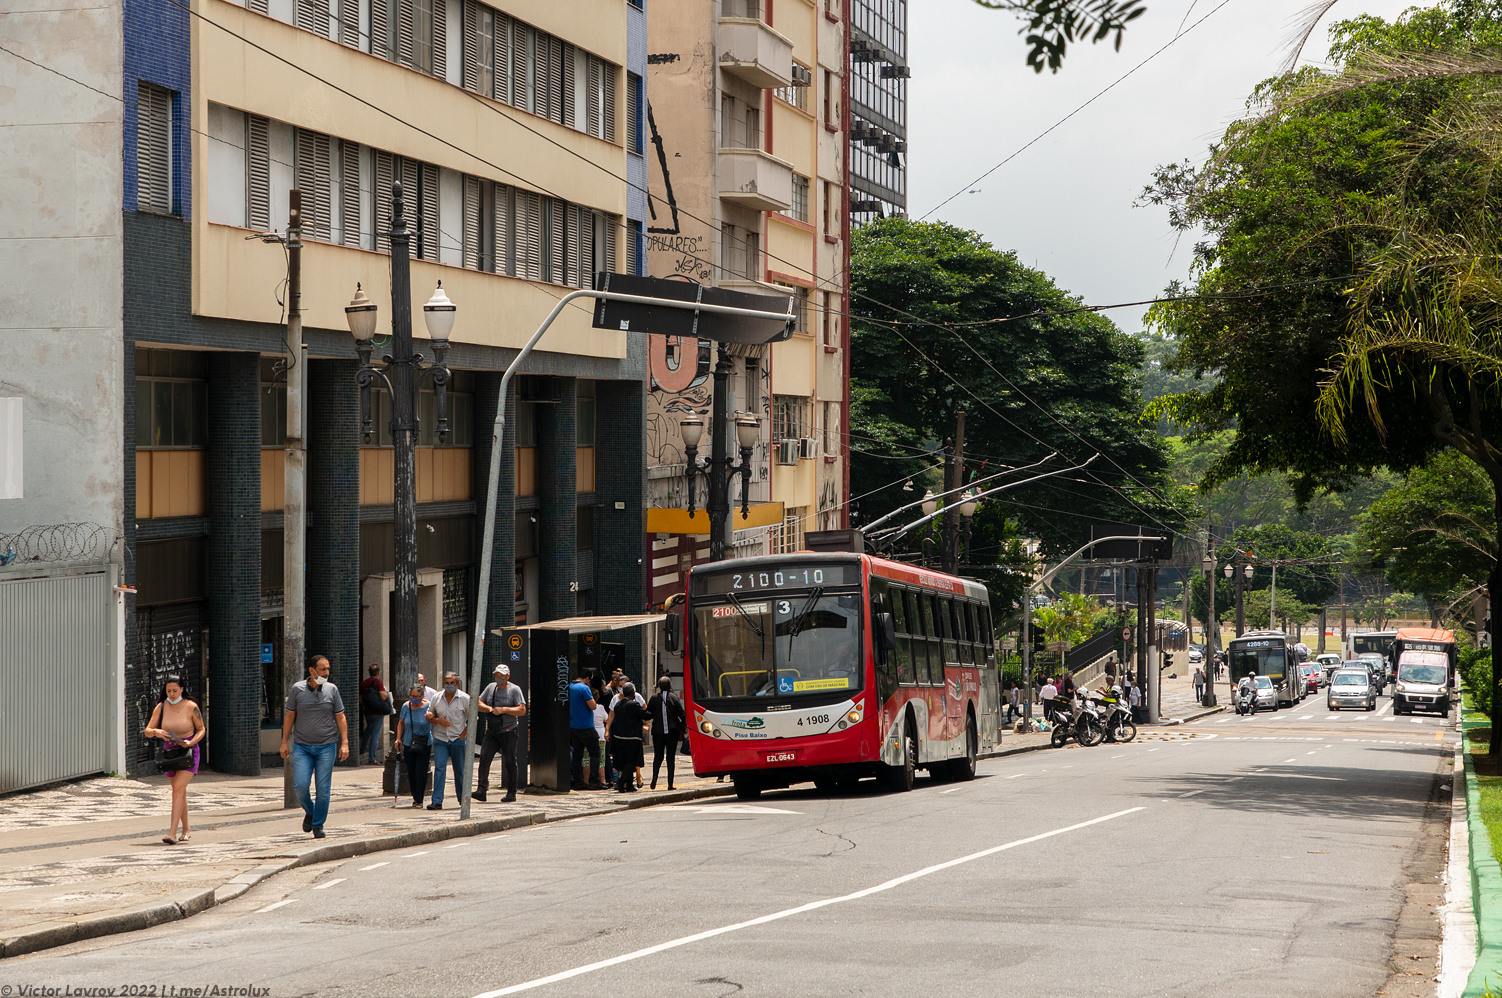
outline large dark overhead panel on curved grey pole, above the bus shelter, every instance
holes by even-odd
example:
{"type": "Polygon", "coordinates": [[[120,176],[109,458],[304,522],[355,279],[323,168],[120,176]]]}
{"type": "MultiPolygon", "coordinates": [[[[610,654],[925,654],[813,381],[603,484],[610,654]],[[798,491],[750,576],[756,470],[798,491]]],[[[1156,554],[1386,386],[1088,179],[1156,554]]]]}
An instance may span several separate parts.
{"type": "Polygon", "coordinates": [[[746,295],[721,287],[704,287],[691,281],[668,281],[635,274],[599,274],[596,290],[641,298],[665,298],[677,302],[700,302],[728,308],[749,308],[786,316],[757,319],[753,316],[721,316],[694,308],[670,308],[641,302],[595,301],[595,329],[653,332],[665,337],[700,337],[716,343],[763,344],[778,343],[793,335],[798,320],[798,299],[792,295],[746,295]]]}

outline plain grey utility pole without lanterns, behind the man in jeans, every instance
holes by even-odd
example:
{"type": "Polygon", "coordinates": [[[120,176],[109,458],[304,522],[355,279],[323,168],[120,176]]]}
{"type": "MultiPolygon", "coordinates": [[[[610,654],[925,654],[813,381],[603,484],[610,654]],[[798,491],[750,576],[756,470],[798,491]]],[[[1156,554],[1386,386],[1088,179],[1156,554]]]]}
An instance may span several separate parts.
{"type": "MultiPolygon", "coordinates": [[[[306,655],[306,461],[302,391],[308,344],[302,341],[302,191],[288,194],[287,213],[287,469],[282,494],[282,688],[305,675],[306,655]]],[[[291,759],[282,761],[282,807],[297,806],[291,759]]]]}

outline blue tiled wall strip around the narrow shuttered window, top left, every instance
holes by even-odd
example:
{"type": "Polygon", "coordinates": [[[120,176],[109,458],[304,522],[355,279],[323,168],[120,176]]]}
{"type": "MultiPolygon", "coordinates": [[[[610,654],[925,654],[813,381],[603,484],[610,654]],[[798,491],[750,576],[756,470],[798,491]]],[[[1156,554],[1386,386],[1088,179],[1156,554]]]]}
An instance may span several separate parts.
{"type": "Polygon", "coordinates": [[[188,11],[170,0],[125,0],[125,210],[135,210],[137,90],[152,83],[173,92],[173,215],[192,215],[191,41],[188,11]]]}

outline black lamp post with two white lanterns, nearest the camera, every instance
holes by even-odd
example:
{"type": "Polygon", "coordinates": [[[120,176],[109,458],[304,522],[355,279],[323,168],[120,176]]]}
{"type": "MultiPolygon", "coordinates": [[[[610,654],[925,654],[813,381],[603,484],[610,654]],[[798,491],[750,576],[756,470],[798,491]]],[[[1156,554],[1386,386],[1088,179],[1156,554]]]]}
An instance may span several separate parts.
{"type": "Polygon", "coordinates": [[[412,349],[412,233],[407,230],[401,185],[394,183],[391,194],[391,353],[382,356],[379,365],[371,364],[376,304],[359,284],[354,286],[354,299],[345,307],[344,317],[360,358],[354,383],[360,388],[360,421],[366,443],[371,439],[371,386],[379,382],[391,397],[397,535],[392,682],[397,690],[406,690],[418,675],[418,392],[424,380],[433,382],[442,442],[449,431],[449,368],[443,364],[443,356],[449,350],[455,307],[440,281],[433,298],[422,307],[422,319],[433,340],[433,364],[425,365],[422,355],[412,349]]]}

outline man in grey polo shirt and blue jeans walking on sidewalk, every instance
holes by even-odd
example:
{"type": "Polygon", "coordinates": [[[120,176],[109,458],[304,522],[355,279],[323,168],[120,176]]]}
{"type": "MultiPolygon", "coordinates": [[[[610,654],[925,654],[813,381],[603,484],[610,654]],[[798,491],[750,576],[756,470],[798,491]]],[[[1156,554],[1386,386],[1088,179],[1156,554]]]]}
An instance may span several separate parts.
{"type": "Polygon", "coordinates": [[[302,804],[302,830],[323,839],[333,791],[333,762],[350,756],[350,729],[344,720],[344,697],[329,682],[329,660],[308,660],[308,678],[294,682],[282,714],[281,756],[291,762],[291,783],[302,804]],[[290,744],[288,744],[290,742],[290,744]],[[308,792],[308,782],[314,792],[308,792]]]}

